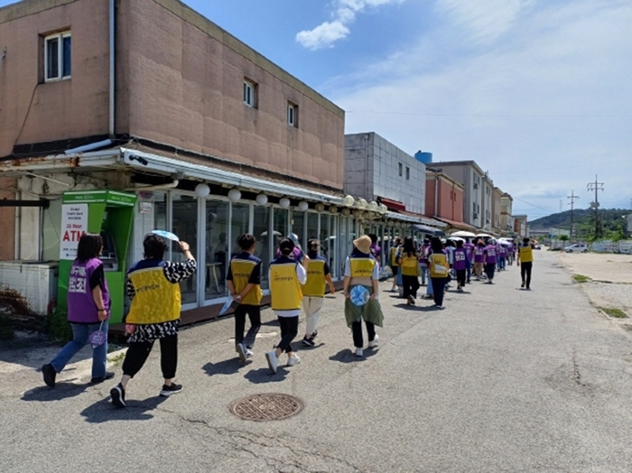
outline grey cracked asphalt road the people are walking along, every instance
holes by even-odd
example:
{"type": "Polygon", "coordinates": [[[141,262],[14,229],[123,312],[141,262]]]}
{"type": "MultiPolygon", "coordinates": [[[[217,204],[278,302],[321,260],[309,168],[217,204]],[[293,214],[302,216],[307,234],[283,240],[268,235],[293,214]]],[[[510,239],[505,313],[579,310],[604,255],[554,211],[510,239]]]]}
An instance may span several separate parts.
{"type": "Polygon", "coordinates": [[[508,266],[493,285],[448,292],[443,311],[420,300],[407,308],[382,283],[385,327],[363,359],[349,350],[340,294],[325,301],[317,348],[276,375],[264,357],[278,338],[269,310],[246,366],[233,320],[183,329],[182,393],[157,396],[156,346],[125,410],[108,402],[114,383],[88,385],[89,361],[50,389],[33,366],[51,348],[0,349],[0,469],[632,471],[628,332],[590,306],[558,255],[535,257],[531,292],[508,266]],[[229,412],[260,393],[305,407],[271,422],[229,412]]]}

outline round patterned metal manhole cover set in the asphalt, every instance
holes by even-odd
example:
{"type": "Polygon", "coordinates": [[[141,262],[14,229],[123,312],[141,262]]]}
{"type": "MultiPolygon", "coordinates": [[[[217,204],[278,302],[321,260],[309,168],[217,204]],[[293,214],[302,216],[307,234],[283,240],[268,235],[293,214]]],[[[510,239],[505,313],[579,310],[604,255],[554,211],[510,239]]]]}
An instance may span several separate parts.
{"type": "Polygon", "coordinates": [[[255,394],[230,404],[230,412],[246,421],[287,419],[303,408],[302,401],[288,394],[255,394]]]}

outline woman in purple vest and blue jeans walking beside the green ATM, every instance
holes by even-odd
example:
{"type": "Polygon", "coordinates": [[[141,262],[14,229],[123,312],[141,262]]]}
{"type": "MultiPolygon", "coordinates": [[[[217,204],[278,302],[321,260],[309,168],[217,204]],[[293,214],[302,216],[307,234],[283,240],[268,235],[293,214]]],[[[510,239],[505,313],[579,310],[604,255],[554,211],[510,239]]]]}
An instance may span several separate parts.
{"type": "Polygon", "coordinates": [[[110,298],[103,263],[98,259],[102,248],[100,235],[85,233],[79,238],[77,258],[70,266],[68,282],[68,321],[72,327],[72,340],[61,348],[51,363],[42,366],[44,383],[51,387],[55,385],[55,376],[88,343],[89,335],[99,329],[106,334],[106,341],[92,348],[91,381],[100,383],[114,376],[106,371],[110,298]]]}

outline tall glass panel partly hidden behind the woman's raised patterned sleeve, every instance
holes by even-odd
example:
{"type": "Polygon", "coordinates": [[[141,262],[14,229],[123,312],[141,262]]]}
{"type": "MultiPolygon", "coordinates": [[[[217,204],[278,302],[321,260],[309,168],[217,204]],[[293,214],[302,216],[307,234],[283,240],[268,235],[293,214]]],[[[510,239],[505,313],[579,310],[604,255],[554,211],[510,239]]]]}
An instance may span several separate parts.
{"type": "MultiPolygon", "coordinates": [[[[159,204],[156,204],[156,208],[159,204]]],[[[198,247],[198,199],[191,196],[173,195],[172,197],[172,232],[191,246],[195,252],[198,247]]],[[[194,257],[197,257],[193,253],[194,257]]],[[[177,243],[172,242],[172,261],[184,261],[184,255],[177,243]]],[[[182,303],[197,301],[197,279],[195,275],[181,281],[182,303]]]]}

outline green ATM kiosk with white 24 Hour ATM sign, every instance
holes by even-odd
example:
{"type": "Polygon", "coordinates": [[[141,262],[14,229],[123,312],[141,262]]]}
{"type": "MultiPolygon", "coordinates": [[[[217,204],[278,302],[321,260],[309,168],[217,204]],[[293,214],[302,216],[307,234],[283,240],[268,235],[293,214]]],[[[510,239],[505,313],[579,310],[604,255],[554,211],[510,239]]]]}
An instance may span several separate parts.
{"type": "Polygon", "coordinates": [[[61,207],[60,278],[57,301],[67,310],[70,265],[77,255],[79,237],[85,232],[103,238],[101,260],[110,292],[110,324],[123,321],[125,263],[134,224],[135,194],[117,190],[70,190],[64,192],[61,207]]]}

